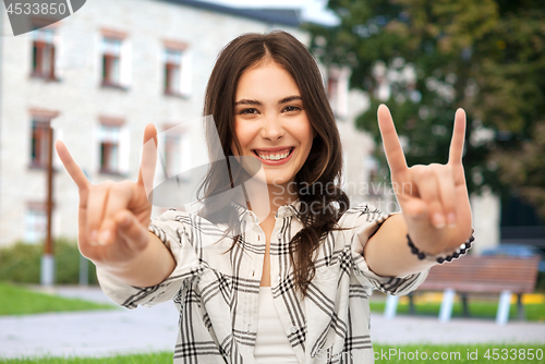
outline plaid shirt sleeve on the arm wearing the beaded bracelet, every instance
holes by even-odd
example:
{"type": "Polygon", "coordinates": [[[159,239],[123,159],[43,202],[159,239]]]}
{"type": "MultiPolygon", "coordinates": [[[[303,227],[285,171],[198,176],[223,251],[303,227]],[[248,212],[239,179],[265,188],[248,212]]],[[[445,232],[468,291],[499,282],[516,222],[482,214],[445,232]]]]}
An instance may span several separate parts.
{"type": "Polygon", "coordinates": [[[362,286],[373,286],[383,293],[402,295],[414,291],[427,277],[428,270],[404,277],[383,277],[370,269],[363,255],[363,248],[380,225],[391,215],[384,215],[372,205],[365,204],[355,208],[352,217],[355,228],[351,231],[350,248],[352,251],[353,269],[362,286]]]}

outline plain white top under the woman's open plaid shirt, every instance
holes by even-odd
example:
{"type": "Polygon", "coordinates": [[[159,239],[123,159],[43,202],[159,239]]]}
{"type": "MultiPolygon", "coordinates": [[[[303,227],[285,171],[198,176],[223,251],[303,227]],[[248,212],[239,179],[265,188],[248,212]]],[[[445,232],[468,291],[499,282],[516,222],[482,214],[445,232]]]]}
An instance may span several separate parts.
{"type": "Polygon", "coordinates": [[[257,337],[254,357],[257,364],[298,364],[298,356],[283,331],[270,287],[259,287],[257,337]]]}

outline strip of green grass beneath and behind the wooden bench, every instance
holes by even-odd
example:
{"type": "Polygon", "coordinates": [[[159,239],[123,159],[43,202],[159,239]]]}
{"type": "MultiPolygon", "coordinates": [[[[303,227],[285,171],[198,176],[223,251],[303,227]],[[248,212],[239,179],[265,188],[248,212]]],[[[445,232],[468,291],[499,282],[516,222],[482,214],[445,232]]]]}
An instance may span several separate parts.
{"type": "MultiPolygon", "coordinates": [[[[469,300],[469,311],[470,317],[473,318],[491,318],[494,319],[496,317],[496,312],[498,310],[498,301],[479,301],[469,300]]],[[[384,301],[370,301],[371,311],[373,312],[384,312],[385,302],[384,301]]],[[[415,302],[415,311],[417,315],[431,315],[437,316],[439,315],[440,301],[438,302],[420,302],[416,299],[415,302]]],[[[409,303],[408,300],[403,300],[401,298],[398,304],[398,314],[409,314],[409,303]]],[[[525,303],[524,304],[524,313],[526,320],[530,321],[545,321],[545,302],[535,302],[535,303],[525,303]]],[[[462,304],[459,301],[455,302],[452,307],[452,317],[462,317],[463,310],[462,304]]],[[[510,319],[517,319],[517,304],[511,303],[510,319]]]]}

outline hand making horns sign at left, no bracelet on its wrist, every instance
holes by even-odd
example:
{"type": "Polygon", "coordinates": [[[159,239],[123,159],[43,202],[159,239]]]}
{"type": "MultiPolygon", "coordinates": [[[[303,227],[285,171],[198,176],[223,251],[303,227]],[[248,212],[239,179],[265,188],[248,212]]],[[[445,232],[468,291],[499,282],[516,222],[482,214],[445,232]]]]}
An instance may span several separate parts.
{"type": "MultiPolygon", "coordinates": [[[[107,181],[92,184],[61,141],[55,147],[80,190],[77,243],[82,254],[109,271],[128,269],[158,238],[148,231],[152,204],[145,185],[152,186],[157,160],[157,131],[144,131],[144,153],[136,183],[107,181]],[[154,139],[146,145],[146,142],[154,139]]],[[[162,245],[162,244],[160,244],[162,245]]],[[[131,270],[131,269],[129,269],[131,270]]]]}

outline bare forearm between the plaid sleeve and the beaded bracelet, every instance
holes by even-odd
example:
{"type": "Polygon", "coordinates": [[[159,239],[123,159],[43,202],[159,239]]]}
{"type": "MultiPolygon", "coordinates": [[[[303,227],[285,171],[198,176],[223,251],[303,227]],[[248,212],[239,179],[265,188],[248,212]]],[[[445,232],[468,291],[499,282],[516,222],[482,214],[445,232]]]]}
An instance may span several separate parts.
{"type": "Polygon", "coordinates": [[[368,267],[383,277],[402,277],[426,270],[434,262],[420,260],[407,241],[407,223],[402,214],[390,216],[365,244],[363,255],[368,267]]]}

